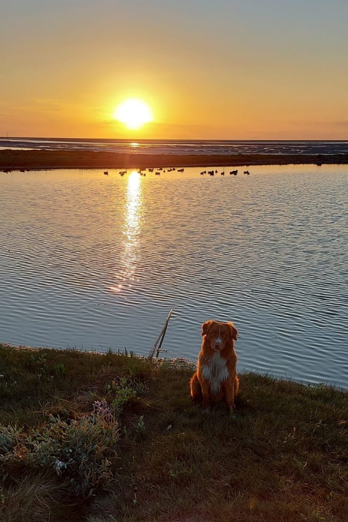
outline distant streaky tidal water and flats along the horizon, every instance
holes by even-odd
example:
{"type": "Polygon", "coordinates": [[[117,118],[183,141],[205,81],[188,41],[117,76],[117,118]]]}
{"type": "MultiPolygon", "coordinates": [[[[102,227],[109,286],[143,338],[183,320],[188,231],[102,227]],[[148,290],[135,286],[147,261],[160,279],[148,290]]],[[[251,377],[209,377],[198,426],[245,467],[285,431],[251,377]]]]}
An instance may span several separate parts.
{"type": "Polygon", "coordinates": [[[348,141],[279,140],[138,140],[87,138],[0,138],[4,148],[93,150],[133,154],[339,154],[348,153],[348,141]]]}

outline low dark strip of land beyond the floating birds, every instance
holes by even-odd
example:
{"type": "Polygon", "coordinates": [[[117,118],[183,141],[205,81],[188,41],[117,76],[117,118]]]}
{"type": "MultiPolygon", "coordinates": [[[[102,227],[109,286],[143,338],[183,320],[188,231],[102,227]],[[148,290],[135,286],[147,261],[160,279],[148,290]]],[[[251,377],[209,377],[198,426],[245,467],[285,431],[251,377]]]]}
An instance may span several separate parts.
{"type": "Polygon", "coordinates": [[[0,170],[239,167],[241,165],[348,164],[348,154],[169,155],[76,150],[0,150],[0,170]]]}

